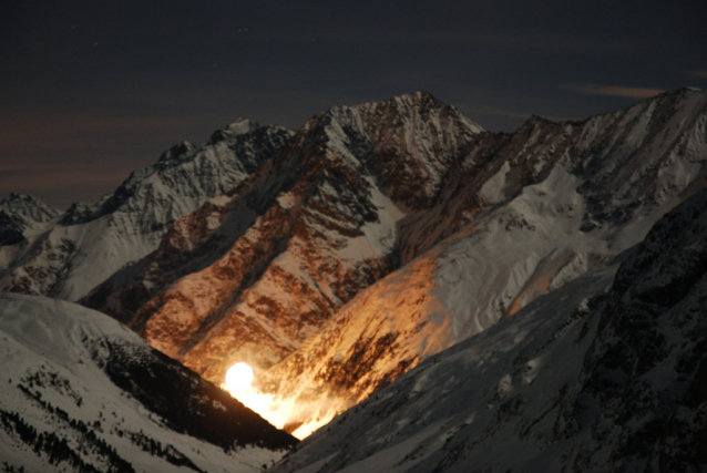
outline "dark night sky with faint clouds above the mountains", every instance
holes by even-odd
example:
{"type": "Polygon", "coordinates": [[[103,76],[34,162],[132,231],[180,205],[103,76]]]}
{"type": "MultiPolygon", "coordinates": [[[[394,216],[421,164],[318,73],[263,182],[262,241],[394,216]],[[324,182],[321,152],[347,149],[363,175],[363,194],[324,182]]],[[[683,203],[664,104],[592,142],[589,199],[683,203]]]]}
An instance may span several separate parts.
{"type": "Polygon", "coordinates": [[[0,199],[65,209],[237,117],[427,90],[491,131],[707,89],[707,1],[12,1],[0,199]]]}

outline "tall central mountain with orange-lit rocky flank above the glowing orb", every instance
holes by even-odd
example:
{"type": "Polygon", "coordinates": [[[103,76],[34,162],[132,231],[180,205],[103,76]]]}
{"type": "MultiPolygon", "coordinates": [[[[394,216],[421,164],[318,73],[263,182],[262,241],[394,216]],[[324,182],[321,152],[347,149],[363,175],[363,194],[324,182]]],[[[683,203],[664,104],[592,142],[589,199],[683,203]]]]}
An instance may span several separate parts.
{"type": "Polygon", "coordinates": [[[214,382],[236,361],[268,368],[399,266],[398,222],[433,205],[480,130],[428,93],[316,115],[83,304],[214,382]]]}

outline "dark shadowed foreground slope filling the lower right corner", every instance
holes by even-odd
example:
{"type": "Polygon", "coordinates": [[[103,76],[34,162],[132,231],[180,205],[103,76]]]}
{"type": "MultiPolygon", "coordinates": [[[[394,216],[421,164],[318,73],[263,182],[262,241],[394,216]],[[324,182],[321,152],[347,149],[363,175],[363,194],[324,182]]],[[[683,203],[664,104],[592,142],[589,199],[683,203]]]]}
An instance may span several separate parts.
{"type": "Polygon", "coordinates": [[[615,264],[535,299],[271,471],[706,471],[707,191],[621,259],[613,284],[615,264]]]}

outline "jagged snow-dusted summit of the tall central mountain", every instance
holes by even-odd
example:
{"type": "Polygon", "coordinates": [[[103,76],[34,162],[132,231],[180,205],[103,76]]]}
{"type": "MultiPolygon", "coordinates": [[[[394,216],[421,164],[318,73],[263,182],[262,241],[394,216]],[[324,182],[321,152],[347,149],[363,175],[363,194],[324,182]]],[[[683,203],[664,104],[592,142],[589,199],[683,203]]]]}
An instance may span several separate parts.
{"type": "Polygon", "coordinates": [[[431,205],[463,146],[481,132],[481,126],[428,92],[336,106],[315,115],[300,131],[308,142],[326,141],[332,150],[349,147],[406,212],[431,205]]]}

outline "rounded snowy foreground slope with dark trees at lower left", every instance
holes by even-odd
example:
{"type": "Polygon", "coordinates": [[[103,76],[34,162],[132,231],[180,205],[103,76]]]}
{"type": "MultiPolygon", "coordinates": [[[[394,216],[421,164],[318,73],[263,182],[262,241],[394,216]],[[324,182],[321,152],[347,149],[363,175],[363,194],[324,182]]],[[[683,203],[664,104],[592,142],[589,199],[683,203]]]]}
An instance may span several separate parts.
{"type": "Polygon", "coordinates": [[[296,443],[126,327],[69,302],[0,295],[0,364],[3,471],[252,472],[296,443]]]}

